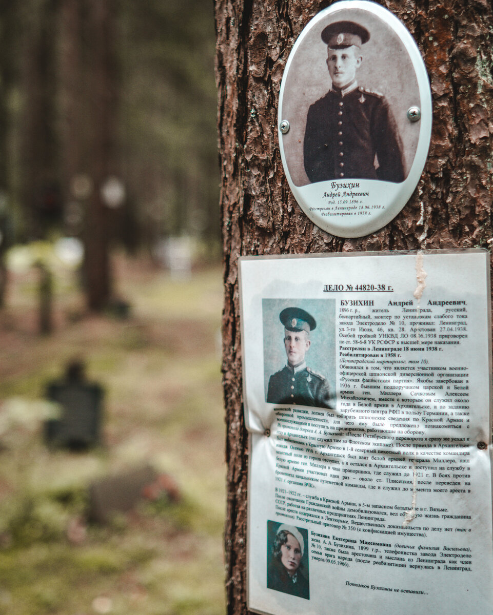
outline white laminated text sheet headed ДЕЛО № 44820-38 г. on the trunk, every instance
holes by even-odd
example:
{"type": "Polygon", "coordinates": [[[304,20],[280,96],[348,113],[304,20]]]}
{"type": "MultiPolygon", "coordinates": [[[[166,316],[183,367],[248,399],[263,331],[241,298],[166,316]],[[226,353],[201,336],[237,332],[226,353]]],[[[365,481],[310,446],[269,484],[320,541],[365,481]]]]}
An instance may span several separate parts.
{"type": "Polygon", "coordinates": [[[493,613],[489,253],[239,268],[249,608],[493,613]]]}

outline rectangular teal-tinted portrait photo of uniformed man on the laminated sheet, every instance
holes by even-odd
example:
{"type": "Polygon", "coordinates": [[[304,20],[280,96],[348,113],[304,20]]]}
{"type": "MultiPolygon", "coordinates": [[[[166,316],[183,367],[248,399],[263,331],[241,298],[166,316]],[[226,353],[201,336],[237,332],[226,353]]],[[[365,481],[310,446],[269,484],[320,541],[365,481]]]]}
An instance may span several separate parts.
{"type": "Polygon", "coordinates": [[[333,299],[263,299],[265,400],[335,408],[333,299]]]}

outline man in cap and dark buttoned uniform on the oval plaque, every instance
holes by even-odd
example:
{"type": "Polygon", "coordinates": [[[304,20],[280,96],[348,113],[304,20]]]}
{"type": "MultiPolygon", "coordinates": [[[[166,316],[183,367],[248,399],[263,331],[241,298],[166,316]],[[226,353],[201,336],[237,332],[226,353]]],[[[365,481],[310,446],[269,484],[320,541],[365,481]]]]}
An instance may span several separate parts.
{"type": "Polygon", "coordinates": [[[388,102],[356,81],[361,46],[369,38],[369,31],[354,22],[331,23],[322,31],[332,88],[308,110],[303,155],[313,183],[404,181],[401,140],[388,102]]]}

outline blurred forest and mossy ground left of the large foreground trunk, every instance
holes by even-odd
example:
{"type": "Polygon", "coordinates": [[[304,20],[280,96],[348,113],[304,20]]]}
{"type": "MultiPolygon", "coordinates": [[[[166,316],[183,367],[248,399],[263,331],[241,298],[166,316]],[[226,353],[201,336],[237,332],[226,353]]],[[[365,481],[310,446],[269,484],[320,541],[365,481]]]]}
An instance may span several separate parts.
{"type": "Polygon", "coordinates": [[[0,0],[0,615],[225,612],[214,39],[203,0],[0,0]],[[90,445],[54,382],[103,392],[90,445]]]}

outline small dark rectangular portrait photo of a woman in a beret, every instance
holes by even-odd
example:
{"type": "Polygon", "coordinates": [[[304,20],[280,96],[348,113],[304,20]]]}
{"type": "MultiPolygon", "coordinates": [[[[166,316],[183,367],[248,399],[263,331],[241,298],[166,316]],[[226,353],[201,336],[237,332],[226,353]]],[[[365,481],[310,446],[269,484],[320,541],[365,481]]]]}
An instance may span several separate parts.
{"type": "Polygon", "coordinates": [[[267,587],[310,600],[308,531],[267,522],[267,587]]]}

